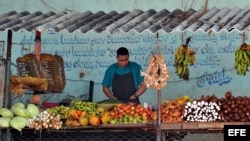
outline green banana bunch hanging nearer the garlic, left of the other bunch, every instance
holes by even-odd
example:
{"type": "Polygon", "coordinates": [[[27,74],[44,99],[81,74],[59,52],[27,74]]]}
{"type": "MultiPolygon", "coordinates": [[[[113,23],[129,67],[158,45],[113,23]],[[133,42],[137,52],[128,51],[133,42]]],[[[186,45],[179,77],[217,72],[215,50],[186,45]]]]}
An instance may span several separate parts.
{"type": "Polygon", "coordinates": [[[195,52],[188,48],[188,44],[191,37],[188,37],[185,45],[181,45],[177,48],[175,52],[175,73],[184,80],[189,80],[189,68],[188,65],[193,65],[195,63],[195,52]]]}

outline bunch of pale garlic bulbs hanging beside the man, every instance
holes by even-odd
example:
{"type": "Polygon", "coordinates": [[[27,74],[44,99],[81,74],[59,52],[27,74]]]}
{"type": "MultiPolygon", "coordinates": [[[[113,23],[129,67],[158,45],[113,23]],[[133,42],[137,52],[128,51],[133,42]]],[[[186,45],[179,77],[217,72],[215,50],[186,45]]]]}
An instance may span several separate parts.
{"type": "Polygon", "coordinates": [[[157,90],[167,85],[169,73],[162,54],[152,55],[146,72],[141,72],[147,87],[157,90]]]}

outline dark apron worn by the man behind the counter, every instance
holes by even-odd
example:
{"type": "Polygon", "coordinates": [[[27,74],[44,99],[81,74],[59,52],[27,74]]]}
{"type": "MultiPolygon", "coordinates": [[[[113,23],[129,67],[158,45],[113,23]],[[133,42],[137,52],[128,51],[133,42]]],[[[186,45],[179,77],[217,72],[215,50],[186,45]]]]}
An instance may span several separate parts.
{"type": "Polygon", "coordinates": [[[112,92],[118,100],[124,103],[135,102],[140,104],[138,97],[136,99],[130,99],[136,92],[132,72],[125,75],[118,75],[115,73],[112,80],[112,92]]]}

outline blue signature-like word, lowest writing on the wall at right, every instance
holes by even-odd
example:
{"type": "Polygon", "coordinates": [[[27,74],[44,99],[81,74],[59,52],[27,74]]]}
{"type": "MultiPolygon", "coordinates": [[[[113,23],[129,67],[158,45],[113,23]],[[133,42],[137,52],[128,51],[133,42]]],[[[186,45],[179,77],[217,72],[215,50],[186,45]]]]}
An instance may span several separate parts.
{"type": "Polygon", "coordinates": [[[222,86],[223,84],[228,84],[231,81],[232,77],[229,77],[225,74],[225,68],[222,71],[215,71],[212,74],[209,74],[207,71],[197,80],[197,87],[202,88],[205,84],[213,85],[218,84],[222,86]]]}

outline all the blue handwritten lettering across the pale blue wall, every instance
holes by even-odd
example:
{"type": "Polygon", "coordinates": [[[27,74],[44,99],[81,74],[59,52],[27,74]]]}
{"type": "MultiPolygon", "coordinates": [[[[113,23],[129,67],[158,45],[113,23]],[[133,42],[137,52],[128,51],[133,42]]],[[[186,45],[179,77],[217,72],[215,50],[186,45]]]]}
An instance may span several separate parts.
{"type": "MultiPolygon", "coordinates": [[[[34,35],[24,35],[22,43],[24,45],[34,45],[34,35]]],[[[196,52],[195,68],[208,66],[217,68],[221,65],[222,57],[220,54],[233,54],[236,50],[236,39],[241,38],[239,34],[193,34],[189,47],[196,52]],[[219,41],[223,43],[219,44],[219,41]]],[[[65,71],[74,71],[75,69],[84,70],[105,70],[109,65],[116,62],[116,51],[118,47],[128,47],[130,59],[136,61],[142,67],[146,68],[149,63],[151,53],[160,53],[164,55],[165,63],[168,67],[174,66],[174,53],[180,43],[185,43],[185,38],[179,34],[107,34],[104,36],[83,36],[81,34],[55,34],[48,32],[47,36],[42,38],[42,53],[56,54],[64,58],[65,71]]],[[[21,48],[22,55],[33,52],[24,51],[21,48]]],[[[201,69],[202,70],[202,69],[201,69]]],[[[223,72],[221,72],[223,74],[223,72]]],[[[221,74],[216,73],[216,74],[221,74]]],[[[208,82],[223,84],[227,79],[218,81],[214,75],[203,74],[206,79],[200,79],[198,86],[203,87],[208,82]],[[206,76],[208,75],[208,76],[206,76]],[[209,79],[208,79],[209,78],[209,79]]]]}

